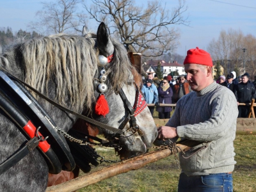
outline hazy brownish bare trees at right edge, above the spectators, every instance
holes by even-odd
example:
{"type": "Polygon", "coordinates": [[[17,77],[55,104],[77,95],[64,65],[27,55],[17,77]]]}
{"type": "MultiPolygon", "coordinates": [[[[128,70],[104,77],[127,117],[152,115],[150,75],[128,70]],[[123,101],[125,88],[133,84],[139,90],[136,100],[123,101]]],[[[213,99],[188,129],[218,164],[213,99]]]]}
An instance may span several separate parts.
{"type": "Polygon", "coordinates": [[[251,76],[256,73],[256,38],[252,35],[244,36],[241,30],[222,30],[218,40],[212,40],[207,47],[212,59],[220,61],[227,75],[235,70],[238,75],[244,73],[243,62],[246,63],[245,70],[251,76]],[[243,52],[243,49],[246,49],[243,52]]]}

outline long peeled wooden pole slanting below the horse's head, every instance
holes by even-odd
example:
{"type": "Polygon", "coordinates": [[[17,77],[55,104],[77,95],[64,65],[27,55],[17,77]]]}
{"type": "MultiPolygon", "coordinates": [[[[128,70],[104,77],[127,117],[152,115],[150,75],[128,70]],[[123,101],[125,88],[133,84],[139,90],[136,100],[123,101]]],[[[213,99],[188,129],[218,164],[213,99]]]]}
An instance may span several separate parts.
{"type": "MultiPolygon", "coordinates": [[[[184,152],[189,150],[189,148],[198,145],[198,141],[189,141],[184,140],[180,141],[177,146],[179,146],[184,152]]],[[[131,170],[138,170],[139,168],[145,166],[148,163],[153,163],[158,161],[159,159],[163,159],[164,157],[168,157],[172,154],[170,149],[163,149],[150,152],[143,156],[134,157],[132,159],[128,159],[126,161],[122,161],[121,163],[113,164],[112,166],[108,166],[97,172],[91,172],[76,179],[69,180],[57,186],[51,186],[47,188],[46,191],[54,191],[54,192],[69,192],[75,191],[77,189],[84,188],[89,186],[90,184],[95,184],[101,180],[108,179],[109,177],[113,177],[115,175],[119,175],[121,173],[126,173],[131,170]]]]}

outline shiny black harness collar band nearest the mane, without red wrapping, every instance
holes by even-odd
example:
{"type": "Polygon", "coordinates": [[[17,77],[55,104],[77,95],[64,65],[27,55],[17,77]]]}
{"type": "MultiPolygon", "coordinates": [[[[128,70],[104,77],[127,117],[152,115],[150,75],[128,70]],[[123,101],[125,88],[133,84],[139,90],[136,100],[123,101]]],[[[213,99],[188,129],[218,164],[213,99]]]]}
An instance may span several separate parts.
{"type": "MultiPolygon", "coordinates": [[[[54,129],[56,124],[50,121],[51,118],[47,118],[49,115],[47,115],[42,106],[38,104],[36,99],[28,93],[28,90],[25,91],[26,88],[17,82],[17,84],[15,84],[14,81],[2,71],[0,71],[0,77],[1,89],[4,90],[6,94],[10,95],[8,97],[12,98],[12,102],[19,106],[20,111],[23,110],[23,114],[26,114],[36,127],[42,126],[40,132],[42,132],[43,135],[49,136],[50,139],[48,141],[51,148],[60,158],[61,164],[63,164],[62,170],[72,171],[76,163],[67,147],[65,139],[61,139],[58,132],[54,129]],[[33,98],[33,100],[31,100],[31,98],[33,98]]],[[[49,159],[49,157],[47,159],[49,159]]]]}

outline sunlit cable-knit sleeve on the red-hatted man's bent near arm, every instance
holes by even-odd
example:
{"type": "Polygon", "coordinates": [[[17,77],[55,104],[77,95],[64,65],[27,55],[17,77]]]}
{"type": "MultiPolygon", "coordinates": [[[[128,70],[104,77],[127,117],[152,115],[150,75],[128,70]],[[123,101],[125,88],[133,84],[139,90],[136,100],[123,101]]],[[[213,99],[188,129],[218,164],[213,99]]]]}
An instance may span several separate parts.
{"type": "MultiPolygon", "coordinates": [[[[179,137],[196,141],[212,141],[228,134],[230,126],[238,115],[234,95],[228,93],[219,95],[209,105],[211,107],[211,117],[198,124],[178,126],[177,134],[179,137]]],[[[202,114],[204,115],[204,112],[202,114]]]]}

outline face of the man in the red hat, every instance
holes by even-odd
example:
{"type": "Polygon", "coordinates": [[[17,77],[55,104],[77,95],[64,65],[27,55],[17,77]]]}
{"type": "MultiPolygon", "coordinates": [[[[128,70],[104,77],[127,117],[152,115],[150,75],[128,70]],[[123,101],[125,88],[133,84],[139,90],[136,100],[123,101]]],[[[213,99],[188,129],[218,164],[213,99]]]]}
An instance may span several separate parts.
{"type": "Polygon", "coordinates": [[[207,86],[207,66],[189,63],[184,68],[191,90],[199,92],[207,86]]]}

